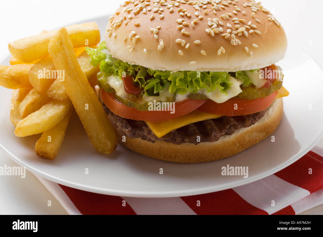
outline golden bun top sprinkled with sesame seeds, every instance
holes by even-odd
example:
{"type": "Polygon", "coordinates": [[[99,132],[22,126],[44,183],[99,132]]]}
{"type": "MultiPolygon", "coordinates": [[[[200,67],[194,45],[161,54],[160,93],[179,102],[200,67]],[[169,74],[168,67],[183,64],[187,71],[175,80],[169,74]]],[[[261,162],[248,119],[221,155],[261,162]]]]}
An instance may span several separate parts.
{"type": "Polygon", "coordinates": [[[266,67],[285,56],[280,22],[254,0],[130,0],[109,17],[111,55],[161,71],[266,67]]]}

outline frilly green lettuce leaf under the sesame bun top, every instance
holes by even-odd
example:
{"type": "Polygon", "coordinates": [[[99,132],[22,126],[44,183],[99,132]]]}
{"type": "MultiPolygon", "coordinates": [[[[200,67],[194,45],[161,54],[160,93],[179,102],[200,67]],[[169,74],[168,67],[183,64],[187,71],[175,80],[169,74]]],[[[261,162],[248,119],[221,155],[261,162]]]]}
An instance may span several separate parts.
{"type": "MultiPolygon", "coordinates": [[[[219,89],[226,93],[230,88],[228,72],[197,72],[197,71],[158,71],[138,65],[131,65],[120,59],[113,58],[103,41],[97,49],[86,48],[90,63],[100,64],[100,71],[107,76],[114,75],[122,80],[122,75],[132,75],[133,81],[139,84],[146,95],[159,95],[159,92],[169,86],[169,93],[197,93],[201,89],[207,92],[219,89]]],[[[243,81],[243,86],[253,83],[244,71],[238,71],[235,76],[243,81]]]]}

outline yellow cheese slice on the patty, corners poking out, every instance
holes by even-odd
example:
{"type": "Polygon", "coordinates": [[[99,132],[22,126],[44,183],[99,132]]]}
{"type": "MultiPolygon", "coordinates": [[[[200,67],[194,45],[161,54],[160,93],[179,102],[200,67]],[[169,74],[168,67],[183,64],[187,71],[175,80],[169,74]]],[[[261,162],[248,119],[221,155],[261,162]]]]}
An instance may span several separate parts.
{"type": "MultiPolygon", "coordinates": [[[[284,88],[280,88],[277,92],[276,98],[281,98],[288,96],[289,92],[284,88]]],[[[157,136],[162,137],[166,135],[167,133],[184,127],[190,123],[196,123],[207,119],[214,119],[214,118],[220,118],[221,115],[218,114],[209,114],[202,111],[194,110],[189,114],[185,114],[183,116],[180,116],[178,118],[174,118],[171,120],[165,120],[165,121],[159,121],[159,122],[147,122],[148,127],[151,129],[151,131],[157,136]]]]}

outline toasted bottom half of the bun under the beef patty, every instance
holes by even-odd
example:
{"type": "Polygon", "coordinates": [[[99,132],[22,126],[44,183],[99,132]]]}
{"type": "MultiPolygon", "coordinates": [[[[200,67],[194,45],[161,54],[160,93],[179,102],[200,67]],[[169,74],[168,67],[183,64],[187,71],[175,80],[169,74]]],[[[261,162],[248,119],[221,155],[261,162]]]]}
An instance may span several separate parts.
{"type": "Polygon", "coordinates": [[[130,150],[162,161],[176,163],[200,163],[220,160],[255,145],[278,127],[283,117],[283,99],[276,99],[268,108],[266,114],[254,125],[241,128],[232,135],[223,135],[216,142],[202,142],[197,145],[183,143],[180,145],[156,141],[147,142],[140,138],[126,138],[117,133],[121,144],[130,150]]]}

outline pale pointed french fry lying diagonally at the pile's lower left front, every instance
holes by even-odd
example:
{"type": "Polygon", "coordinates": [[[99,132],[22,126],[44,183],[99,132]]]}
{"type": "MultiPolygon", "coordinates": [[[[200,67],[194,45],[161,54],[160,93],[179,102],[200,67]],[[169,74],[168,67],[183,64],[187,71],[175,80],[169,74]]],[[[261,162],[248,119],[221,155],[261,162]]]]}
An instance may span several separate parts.
{"type": "Polygon", "coordinates": [[[71,108],[70,100],[52,100],[42,106],[36,112],[29,114],[26,118],[17,123],[15,134],[18,137],[30,136],[43,133],[57,125],[71,108]]]}

